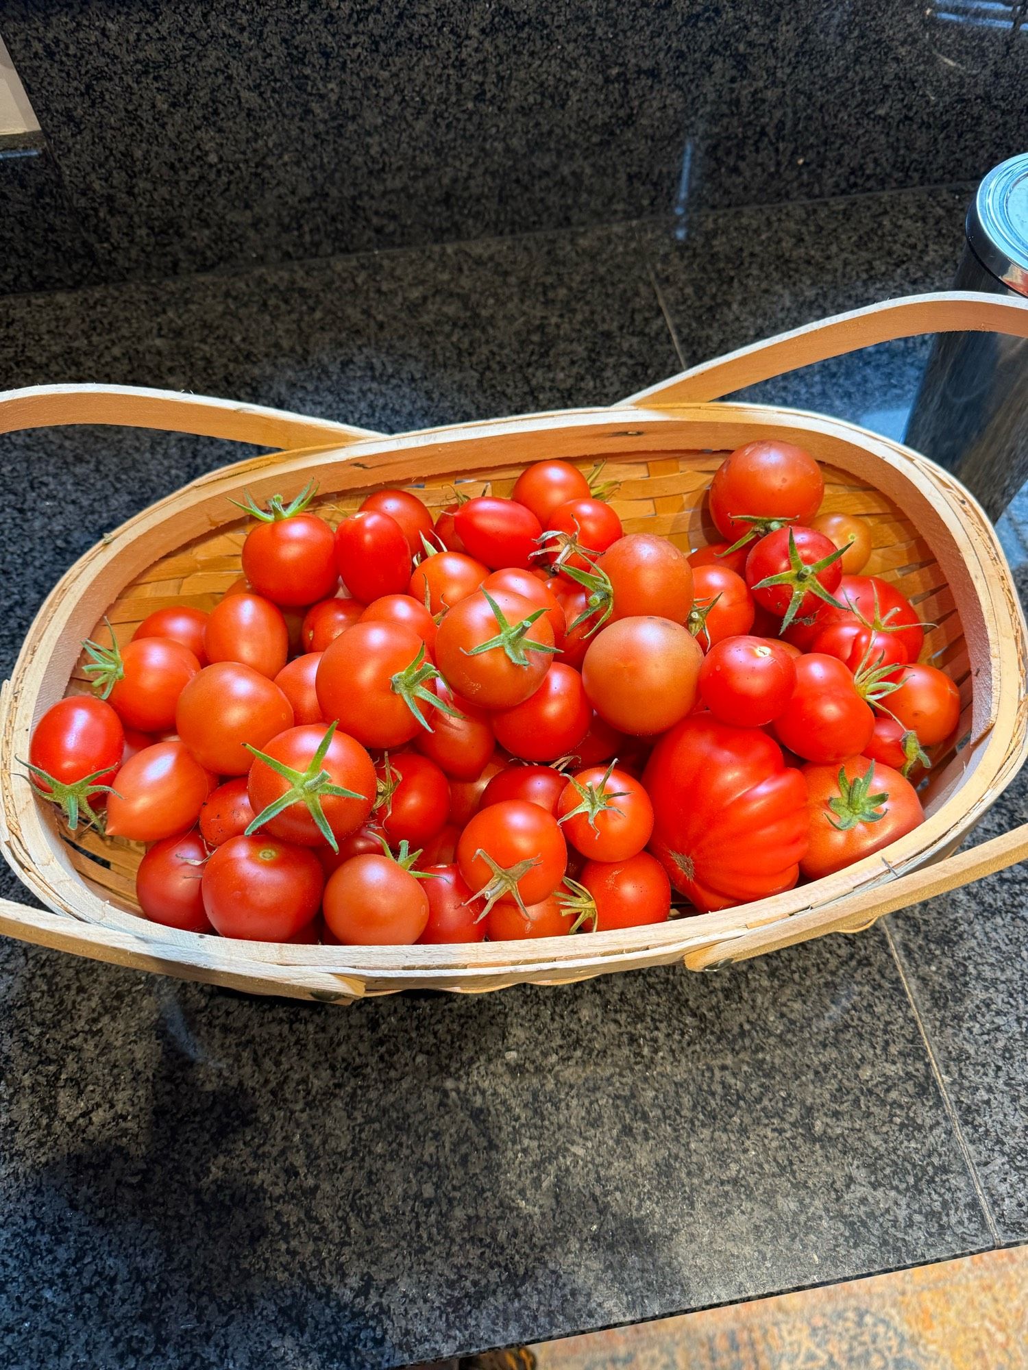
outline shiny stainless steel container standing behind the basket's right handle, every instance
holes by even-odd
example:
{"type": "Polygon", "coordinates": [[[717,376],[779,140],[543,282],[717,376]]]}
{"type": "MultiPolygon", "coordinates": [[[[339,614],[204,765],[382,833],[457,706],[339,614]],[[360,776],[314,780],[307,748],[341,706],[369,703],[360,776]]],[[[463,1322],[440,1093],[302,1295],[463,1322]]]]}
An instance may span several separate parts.
{"type": "MultiPolygon", "coordinates": [[[[1028,152],[979,186],[954,289],[1028,296],[1028,152]]],[[[958,475],[999,518],[1028,481],[1028,340],[938,337],[906,443],[958,475]]]]}

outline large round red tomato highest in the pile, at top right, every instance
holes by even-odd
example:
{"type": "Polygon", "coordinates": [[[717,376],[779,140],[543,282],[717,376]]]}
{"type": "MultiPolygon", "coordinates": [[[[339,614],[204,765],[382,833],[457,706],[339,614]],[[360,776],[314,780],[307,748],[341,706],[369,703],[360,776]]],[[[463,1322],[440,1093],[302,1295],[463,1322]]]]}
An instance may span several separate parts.
{"type": "Polygon", "coordinates": [[[821,467],[799,447],[777,440],[747,443],[718,466],[710,484],[710,516],[729,543],[762,536],[783,523],[806,523],[825,492],[821,467]]]}

